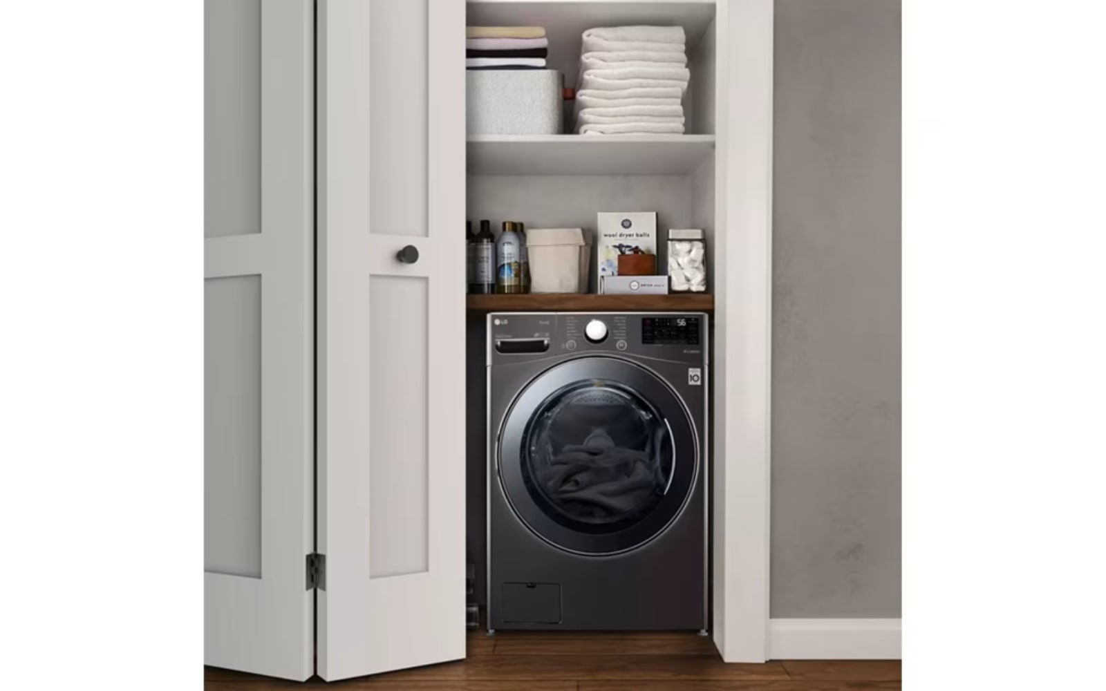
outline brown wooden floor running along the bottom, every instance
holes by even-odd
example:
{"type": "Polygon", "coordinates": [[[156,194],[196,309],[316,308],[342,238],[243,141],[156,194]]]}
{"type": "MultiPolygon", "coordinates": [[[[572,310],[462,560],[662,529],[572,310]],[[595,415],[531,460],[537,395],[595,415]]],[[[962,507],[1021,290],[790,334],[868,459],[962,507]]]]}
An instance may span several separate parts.
{"type": "Polygon", "coordinates": [[[898,661],[727,664],[695,634],[469,631],[468,658],[326,684],[205,668],[207,691],[886,691],[901,689],[898,661]]]}

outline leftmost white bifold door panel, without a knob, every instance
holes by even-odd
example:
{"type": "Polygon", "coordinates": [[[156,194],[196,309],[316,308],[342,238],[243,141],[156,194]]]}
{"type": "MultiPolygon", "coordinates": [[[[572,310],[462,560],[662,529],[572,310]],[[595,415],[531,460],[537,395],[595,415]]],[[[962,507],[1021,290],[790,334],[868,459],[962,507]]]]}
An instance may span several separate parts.
{"type": "Polygon", "coordinates": [[[205,663],[313,672],[313,7],[205,3],[205,663]]]}

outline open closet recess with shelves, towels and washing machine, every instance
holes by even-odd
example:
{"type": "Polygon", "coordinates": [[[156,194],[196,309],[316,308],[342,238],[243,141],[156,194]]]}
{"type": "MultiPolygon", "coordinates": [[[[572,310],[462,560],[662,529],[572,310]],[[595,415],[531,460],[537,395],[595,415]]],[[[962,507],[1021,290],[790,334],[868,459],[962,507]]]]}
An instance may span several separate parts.
{"type": "MultiPolygon", "coordinates": [[[[709,628],[706,485],[711,459],[709,355],[714,328],[717,247],[716,18],[714,2],[468,2],[467,220],[473,234],[480,231],[482,221],[488,221],[495,238],[490,248],[492,287],[470,290],[467,296],[470,613],[487,613],[491,598],[510,611],[541,614],[511,621],[517,615],[500,611],[497,618],[501,628],[503,621],[509,624],[507,628],[588,628],[592,620],[581,618],[572,607],[578,607],[581,598],[594,598],[595,608],[603,609],[608,607],[603,601],[605,596],[574,590],[573,575],[584,572],[570,567],[572,573],[565,575],[559,570],[562,567],[557,558],[606,558],[614,564],[619,558],[637,558],[635,555],[647,554],[648,549],[667,548],[665,536],[672,542],[676,537],[665,531],[685,528],[679,540],[698,541],[697,548],[685,554],[672,547],[666,555],[670,564],[686,564],[688,555],[692,555],[699,565],[682,574],[680,568],[669,566],[675,568],[668,574],[669,585],[684,588],[684,578],[688,580],[687,589],[701,596],[682,603],[669,598],[667,605],[654,603],[645,608],[632,598],[615,607],[622,607],[623,614],[601,618],[613,626],[596,627],[709,628]],[[634,29],[640,27],[657,29],[634,29]],[[666,41],[670,45],[656,45],[666,41]],[[684,84],[679,84],[681,75],[686,75],[684,84]],[[632,105],[622,106],[623,98],[632,105]],[[639,280],[632,282],[639,284],[637,290],[646,284],[656,292],[630,292],[627,286],[616,286],[615,281],[605,281],[599,253],[609,219],[604,220],[603,214],[613,212],[625,216],[620,227],[630,222],[635,232],[643,222],[638,214],[648,214],[644,217],[641,240],[620,242],[628,247],[617,252],[654,255],[651,265],[634,273],[639,280]],[[541,250],[528,252],[530,290],[495,285],[502,278],[503,264],[508,272],[512,271],[514,256],[504,259],[499,247],[504,223],[521,235],[519,243],[532,242],[535,235],[550,230],[578,229],[584,238],[580,251],[586,259],[578,266],[565,268],[578,272],[578,280],[562,283],[577,286],[576,291],[545,292],[544,285],[533,290],[534,262],[542,261],[541,250]],[[522,226],[521,233],[515,224],[522,226]],[[678,245],[678,260],[689,260],[691,252],[697,258],[690,262],[690,270],[685,265],[681,271],[690,271],[696,281],[701,274],[706,276],[695,284],[696,290],[682,290],[689,287],[687,273],[680,274],[678,284],[670,275],[670,270],[678,269],[669,261],[669,248],[677,247],[670,244],[674,230],[698,231],[671,233],[672,242],[684,242],[678,245]],[[696,241],[689,242],[688,238],[696,241]],[[511,317],[511,324],[498,326],[492,323],[503,314],[523,313],[539,316],[526,316],[521,322],[511,317]],[[602,328],[609,331],[603,341],[588,339],[585,332],[596,320],[585,314],[598,315],[602,328]],[[515,328],[532,333],[514,333],[515,328]],[[492,345],[497,335],[549,338],[551,349],[540,356],[521,353],[515,356],[519,360],[508,360],[492,345]],[[623,342],[625,349],[618,345],[623,342]],[[611,348],[605,350],[607,345],[611,348]],[[499,407],[502,397],[510,397],[505,389],[513,385],[501,384],[494,367],[514,366],[512,363],[518,362],[520,369],[530,368],[532,371],[517,388],[533,390],[544,386],[540,381],[546,370],[562,364],[586,363],[585,355],[632,363],[635,357],[643,358],[643,363],[649,357],[658,362],[667,358],[669,364],[643,367],[653,369],[653,374],[641,380],[635,378],[639,375],[633,366],[619,368],[616,375],[599,368],[593,375],[566,380],[564,390],[553,387],[547,400],[533,401],[533,416],[523,416],[518,422],[520,429],[511,428],[514,422],[508,422],[499,407]],[[546,359],[541,360],[543,357],[546,359]],[[666,366],[670,370],[658,375],[657,370],[666,366]],[[580,384],[585,379],[587,388],[580,384]],[[636,388],[627,392],[624,387],[628,385],[636,388]],[[672,401],[665,399],[666,390],[675,390],[672,401]],[[609,419],[601,423],[597,420],[603,416],[609,419]],[[500,448],[504,438],[511,446],[505,451],[500,448]],[[596,450],[604,444],[619,449],[625,458],[596,450]],[[580,471],[582,465],[570,468],[572,461],[566,460],[573,453],[584,454],[581,463],[623,462],[624,472],[617,480],[596,480],[591,485],[597,493],[606,493],[602,501],[574,494],[568,482],[554,477],[554,470],[570,474],[573,469],[580,471]],[[502,464],[509,462],[530,470],[518,475],[508,473],[504,480],[502,464]],[[659,480],[648,480],[654,477],[659,480]],[[680,479],[682,484],[671,478],[680,479]],[[510,495],[511,483],[518,483],[514,495],[510,495]],[[523,490],[526,494],[519,499],[523,490]],[[677,496],[679,492],[684,494],[677,496]],[[495,541],[490,537],[489,516],[498,520],[497,496],[540,544],[534,558],[540,562],[541,555],[546,555],[550,559],[539,565],[535,576],[520,580],[529,582],[532,588],[503,578],[489,580],[490,569],[505,568],[500,562],[493,565],[489,555],[489,542],[495,541]],[[525,496],[539,498],[535,505],[544,509],[521,506],[529,501],[525,496]],[[695,515],[690,523],[700,526],[698,532],[688,527],[689,512],[695,515]],[[581,527],[582,515],[594,521],[588,530],[581,527]],[[605,523],[604,516],[609,515],[618,520],[605,523]],[[634,540],[626,542],[628,547],[619,543],[619,532],[633,534],[634,540]],[[565,544],[571,546],[566,548],[565,544]],[[596,556],[594,551],[608,551],[609,555],[596,556]],[[701,585],[697,586],[698,582],[701,585]],[[644,609],[645,614],[629,616],[635,609],[644,609]]],[[[489,248],[482,251],[487,253],[489,248]]],[[[480,260],[479,253],[470,256],[487,261],[480,260]]],[[[613,261],[628,262],[617,256],[613,261]]],[[[476,278],[470,273],[470,286],[487,281],[489,269],[482,271],[476,278]]],[[[521,284],[522,276],[518,278],[521,284]]],[[[518,400],[509,404],[519,405],[518,400]]],[[[580,473],[596,474],[591,465],[586,468],[587,472],[580,473]]],[[[573,481],[576,479],[573,475],[573,481]]],[[[641,564],[641,568],[651,568],[647,562],[641,564]]],[[[617,572],[622,567],[613,568],[617,572]]],[[[617,575],[612,578],[617,579],[617,575]]],[[[664,577],[659,577],[639,588],[647,591],[662,584],[664,577]]],[[[480,626],[495,628],[487,620],[480,626]]]]}

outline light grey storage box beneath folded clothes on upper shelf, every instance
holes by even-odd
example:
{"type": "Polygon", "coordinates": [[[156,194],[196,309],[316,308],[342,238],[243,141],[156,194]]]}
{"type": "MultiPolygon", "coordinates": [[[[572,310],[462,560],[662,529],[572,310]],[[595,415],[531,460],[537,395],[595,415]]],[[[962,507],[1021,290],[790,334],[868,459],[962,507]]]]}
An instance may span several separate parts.
{"type": "Polygon", "coordinates": [[[563,78],[556,70],[467,70],[470,135],[559,135],[563,78]]]}

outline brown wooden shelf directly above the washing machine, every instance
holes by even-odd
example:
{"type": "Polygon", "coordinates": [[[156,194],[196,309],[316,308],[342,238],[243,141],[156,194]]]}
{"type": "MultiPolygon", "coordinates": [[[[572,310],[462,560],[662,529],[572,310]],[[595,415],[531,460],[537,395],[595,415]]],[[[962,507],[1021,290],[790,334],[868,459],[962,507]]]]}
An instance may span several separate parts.
{"type": "Polygon", "coordinates": [[[706,293],[668,295],[592,295],[530,293],[469,295],[469,313],[486,312],[712,312],[714,296],[706,293]]]}

